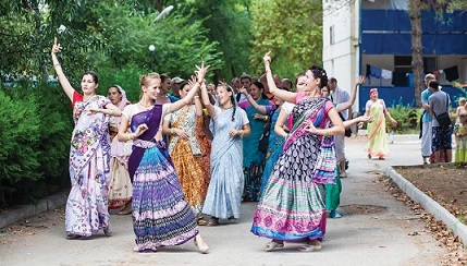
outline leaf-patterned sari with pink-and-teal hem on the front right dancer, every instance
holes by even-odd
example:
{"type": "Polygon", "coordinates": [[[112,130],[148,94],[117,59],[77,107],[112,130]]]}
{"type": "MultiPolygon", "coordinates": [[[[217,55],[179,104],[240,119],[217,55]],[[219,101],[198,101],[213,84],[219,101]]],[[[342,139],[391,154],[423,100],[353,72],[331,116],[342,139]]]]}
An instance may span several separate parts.
{"type": "Polygon", "coordinates": [[[325,98],[303,99],[294,107],[294,128],[258,203],[254,234],[285,241],[324,237],[324,184],[336,176],[334,143],[332,136],[306,132],[304,122],[328,128],[332,107],[325,98]]]}

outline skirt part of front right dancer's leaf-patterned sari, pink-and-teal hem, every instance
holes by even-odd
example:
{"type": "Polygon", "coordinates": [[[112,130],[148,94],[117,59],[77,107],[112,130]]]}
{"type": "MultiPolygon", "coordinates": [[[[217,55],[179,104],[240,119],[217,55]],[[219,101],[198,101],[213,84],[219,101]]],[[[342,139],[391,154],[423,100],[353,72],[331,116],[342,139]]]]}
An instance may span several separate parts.
{"type": "Polygon", "coordinates": [[[255,213],[251,232],[269,239],[321,240],[325,233],[325,189],[310,180],[318,148],[308,135],[282,153],[255,213]]]}

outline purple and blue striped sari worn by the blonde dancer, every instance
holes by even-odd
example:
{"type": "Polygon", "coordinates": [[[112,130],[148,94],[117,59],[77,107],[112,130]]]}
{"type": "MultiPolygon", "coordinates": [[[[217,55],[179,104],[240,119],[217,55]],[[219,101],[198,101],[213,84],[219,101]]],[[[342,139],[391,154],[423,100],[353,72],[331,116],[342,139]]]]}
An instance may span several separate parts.
{"type": "Polygon", "coordinates": [[[198,234],[195,215],[184,200],[172,160],[163,141],[156,141],[162,106],[131,117],[131,130],[146,123],[149,129],[133,142],[128,160],[133,177],[133,229],[135,251],[157,251],[163,245],[179,245],[198,234]]]}

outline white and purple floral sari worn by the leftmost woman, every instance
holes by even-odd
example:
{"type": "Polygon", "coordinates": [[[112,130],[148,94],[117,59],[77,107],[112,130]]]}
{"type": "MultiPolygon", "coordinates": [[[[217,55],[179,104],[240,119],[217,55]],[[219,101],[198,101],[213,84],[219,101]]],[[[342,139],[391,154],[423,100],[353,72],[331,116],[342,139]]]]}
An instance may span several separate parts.
{"type": "Polygon", "coordinates": [[[76,101],[73,108],[73,130],[70,148],[72,189],[66,201],[65,229],[69,234],[90,237],[109,227],[109,117],[89,116],[88,108],[105,108],[110,101],[94,96],[76,101]]]}

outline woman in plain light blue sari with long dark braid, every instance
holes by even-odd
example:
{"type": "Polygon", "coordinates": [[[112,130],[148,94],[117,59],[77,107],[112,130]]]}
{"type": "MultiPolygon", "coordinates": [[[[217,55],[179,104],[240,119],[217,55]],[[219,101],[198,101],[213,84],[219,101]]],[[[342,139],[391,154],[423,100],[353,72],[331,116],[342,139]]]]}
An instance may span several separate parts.
{"type": "Polygon", "coordinates": [[[210,215],[208,226],[217,226],[219,219],[239,217],[244,176],[242,171],[242,137],[250,133],[248,118],[235,106],[234,93],[225,84],[216,92],[220,106],[212,106],[202,86],[202,102],[211,117],[211,180],[202,213],[210,215]]]}

